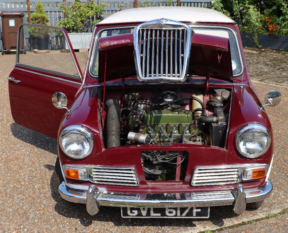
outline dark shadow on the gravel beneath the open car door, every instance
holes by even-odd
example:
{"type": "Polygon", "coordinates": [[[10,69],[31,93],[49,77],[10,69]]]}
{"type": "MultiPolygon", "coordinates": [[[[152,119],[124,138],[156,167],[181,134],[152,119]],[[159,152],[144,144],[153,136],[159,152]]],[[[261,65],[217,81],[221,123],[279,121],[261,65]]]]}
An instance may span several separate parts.
{"type": "Polygon", "coordinates": [[[13,136],[18,138],[19,140],[57,155],[56,139],[48,137],[42,133],[38,133],[34,130],[25,128],[15,122],[10,125],[10,128],[13,136]]]}

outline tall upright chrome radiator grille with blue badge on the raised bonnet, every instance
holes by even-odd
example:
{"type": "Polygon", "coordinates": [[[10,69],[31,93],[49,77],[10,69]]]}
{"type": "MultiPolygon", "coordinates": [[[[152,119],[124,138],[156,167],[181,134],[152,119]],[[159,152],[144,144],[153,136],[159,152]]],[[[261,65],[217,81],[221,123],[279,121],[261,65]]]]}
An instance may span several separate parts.
{"type": "Polygon", "coordinates": [[[140,81],[187,78],[192,29],[181,22],[158,19],[133,31],[134,57],[140,81]]]}

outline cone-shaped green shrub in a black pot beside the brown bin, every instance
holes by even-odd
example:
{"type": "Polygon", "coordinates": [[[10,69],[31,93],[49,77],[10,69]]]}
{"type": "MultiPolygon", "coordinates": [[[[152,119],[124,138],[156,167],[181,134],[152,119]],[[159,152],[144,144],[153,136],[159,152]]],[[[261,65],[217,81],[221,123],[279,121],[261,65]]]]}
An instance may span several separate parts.
{"type": "MultiPolygon", "coordinates": [[[[40,1],[35,6],[35,12],[31,15],[31,24],[47,25],[49,19],[45,14],[45,10],[40,1]]],[[[48,50],[49,35],[51,29],[45,27],[29,27],[29,35],[37,39],[38,50],[48,50]]],[[[34,40],[35,41],[35,40],[34,40]]]]}

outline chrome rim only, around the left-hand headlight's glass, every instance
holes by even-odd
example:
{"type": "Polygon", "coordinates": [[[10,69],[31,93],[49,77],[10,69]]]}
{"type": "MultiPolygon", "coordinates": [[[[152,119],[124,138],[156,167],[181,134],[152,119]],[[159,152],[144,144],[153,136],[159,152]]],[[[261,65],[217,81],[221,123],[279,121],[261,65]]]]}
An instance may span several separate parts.
{"type": "Polygon", "coordinates": [[[94,148],[93,133],[84,125],[69,125],[69,126],[65,127],[65,129],[63,129],[62,132],[60,133],[58,141],[59,141],[59,145],[60,145],[60,148],[63,151],[63,153],[66,154],[67,156],[69,156],[70,158],[74,158],[74,159],[83,159],[83,158],[88,157],[94,148]],[[70,133],[70,132],[81,133],[81,134],[85,135],[86,137],[88,137],[89,143],[90,143],[90,148],[89,148],[88,152],[85,154],[85,156],[81,156],[81,157],[72,156],[71,154],[68,154],[65,151],[65,149],[63,148],[62,138],[65,136],[65,134],[70,133]]]}

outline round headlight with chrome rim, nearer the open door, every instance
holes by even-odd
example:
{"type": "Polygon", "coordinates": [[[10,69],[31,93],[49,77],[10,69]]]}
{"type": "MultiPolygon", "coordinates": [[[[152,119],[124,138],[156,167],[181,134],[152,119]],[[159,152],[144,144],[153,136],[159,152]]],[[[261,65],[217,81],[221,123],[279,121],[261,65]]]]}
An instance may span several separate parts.
{"type": "Polygon", "coordinates": [[[93,149],[93,134],[82,125],[70,125],[61,132],[59,144],[69,157],[85,158],[93,149]]]}

